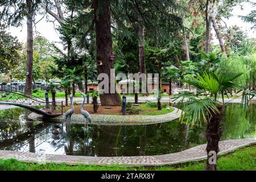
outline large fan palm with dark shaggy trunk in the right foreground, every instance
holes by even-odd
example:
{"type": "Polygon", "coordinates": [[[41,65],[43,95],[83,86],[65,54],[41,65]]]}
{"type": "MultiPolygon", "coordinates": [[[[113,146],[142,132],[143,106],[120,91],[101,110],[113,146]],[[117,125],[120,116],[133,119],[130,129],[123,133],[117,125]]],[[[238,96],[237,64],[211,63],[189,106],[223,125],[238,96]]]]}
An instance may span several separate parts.
{"type": "MultiPolygon", "coordinates": [[[[203,76],[197,74],[196,77],[185,80],[190,85],[195,86],[200,91],[196,94],[185,92],[176,94],[172,98],[179,99],[179,103],[183,106],[183,114],[180,121],[186,119],[187,124],[201,125],[202,122],[207,124],[205,137],[207,138],[207,166],[206,170],[216,170],[216,164],[209,164],[209,158],[212,156],[210,151],[218,153],[218,142],[221,137],[220,121],[221,114],[224,111],[224,95],[228,95],[229,90],[238,88],[236,78],[242,73],[224,73],[222,75],[213,72],[204,72],[203,76]],[[200,97],[203,96],[203,97],[200,97]],[[205,97],[206,96],[206,97],[205,97]],[[218,98],[222,98],[222,102],[218,102],[218,98]]],[[[251,97],[250,97],[251,98],[251,97]]]]}

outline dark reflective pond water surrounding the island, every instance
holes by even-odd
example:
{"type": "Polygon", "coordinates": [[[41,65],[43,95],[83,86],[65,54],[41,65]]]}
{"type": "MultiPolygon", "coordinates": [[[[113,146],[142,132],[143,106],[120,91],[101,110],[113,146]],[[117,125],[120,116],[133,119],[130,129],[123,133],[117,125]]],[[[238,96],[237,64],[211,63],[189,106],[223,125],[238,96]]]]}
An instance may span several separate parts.
{"type": "MultiPolygon", "coordinates": [[[[178,120],[145,126],[72,125],[29,121],[23,109],[0,110],[0,150],[84,156],[161,155],[206,143],[205,126],[189,126],[178,120]]],[[[222,137],[254,138],[256,105],[226,106],[222,137]]]]}

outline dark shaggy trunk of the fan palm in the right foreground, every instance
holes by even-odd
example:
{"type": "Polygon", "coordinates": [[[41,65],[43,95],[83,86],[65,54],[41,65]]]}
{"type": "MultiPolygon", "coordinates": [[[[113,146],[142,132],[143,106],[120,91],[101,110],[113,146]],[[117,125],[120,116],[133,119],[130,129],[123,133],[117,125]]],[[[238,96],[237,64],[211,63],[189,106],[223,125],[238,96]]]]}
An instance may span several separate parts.
{"type": "MultiPolygon", "coordinates": [[[[209,159],[212,155],[209,155],[210,151],[216,152],[218,154],[218,142],[221,138],[221,130],[220,130],[220,122],[221,122],[221,113],[224,110],[224,106],[217,105],[217,109],[220,113],[211,113],[207,130],[205,132],[207,138],[207,166],[205,170],[207,171],[216,171],[217,170],[217,163],[216,164],[209,164],[209,159]]],[[[217,162],[217,159],[216,159],[217,162]]]]}

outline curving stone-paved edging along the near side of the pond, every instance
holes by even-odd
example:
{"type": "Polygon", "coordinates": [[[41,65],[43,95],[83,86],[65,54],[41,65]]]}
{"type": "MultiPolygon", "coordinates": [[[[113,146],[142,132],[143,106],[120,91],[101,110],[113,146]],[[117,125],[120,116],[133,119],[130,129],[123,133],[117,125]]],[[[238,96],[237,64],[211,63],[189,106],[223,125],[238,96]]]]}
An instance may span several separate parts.
{"type": "MultiPolygon", "coordinates": [[[[219,143],[220,152],[223,155],[238,148],[256,144],[256,139],[224,140],[219,143]]],[[[163,166],[167,164],[179,164],[207,159],[206,144],[189,148],[188,150],[155,156],[121,156],[121,157],[94,157],[94,156],[71,156],[35,154],[29,152],[3,151],[0,150],[0,158],[15,158],[22,162],[38,163],[67,163],[108,166],[112,164],[124,164],[126,166],[163,166]]]]}

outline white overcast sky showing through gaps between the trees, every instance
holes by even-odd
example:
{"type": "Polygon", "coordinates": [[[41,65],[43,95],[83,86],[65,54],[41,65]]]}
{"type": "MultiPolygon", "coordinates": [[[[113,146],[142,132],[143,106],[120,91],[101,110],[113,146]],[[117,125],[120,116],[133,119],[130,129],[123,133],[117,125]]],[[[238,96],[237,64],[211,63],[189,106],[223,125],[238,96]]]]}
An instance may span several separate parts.
{"type": "MultiPolygon", "coordinates": [[[[251,0],[251,1],[256,1],[256,0],[251,0]]],[[[229,19],[224,19],[224,21],[226,22],[228,27],[237,25],[241,27],[243,31],[246,31],[247,35],[250,38],[256,39],[256,32],[254,32],[253,30],[250,30],[250,27],[252,27],[252,24],[245,23],[238,17],[238,15],[247,15],[251,10],[253,10],[253,8],[249,3],[242,3],[242,6],[243,6],[243,10],[241,9],[241,6],[234,7],[232,11],[233,16],[230,17],[229,19]]],[[[38,22],[38,20],[40,20],[42,17],[43,15],[37,15],[35,22],[38,22]]],[[[34,27],[34,31],[36,30],[37,32],[39,32],[41,36],[46,37],[50,42],[55,43],[60,49],[63,49],[61,44],[59,43],[60,42],[59,34],[55,30],[55,27],[58,25],[59,24],[56,21],[54,25],[52,22],[47,22],[46,18],[43,18],[42,20],[40,20],[40,22],[36,24],[36,26],[34,27]]],[[[27,39],[26,28],[27,28],[26,19],[24,19],[23,27],[18,27],[18,28],[10,27],[8,31],[11,33],[11,35],[17,36],[20,42],[25,43],[27,39]]],[[[215,35],[213,28],[212,28],[212,34],[215,35]]],[[[218,43],[216,38],[214,39],[214,43],[215,44],[218,43]]]]}

